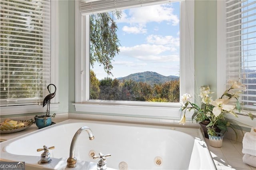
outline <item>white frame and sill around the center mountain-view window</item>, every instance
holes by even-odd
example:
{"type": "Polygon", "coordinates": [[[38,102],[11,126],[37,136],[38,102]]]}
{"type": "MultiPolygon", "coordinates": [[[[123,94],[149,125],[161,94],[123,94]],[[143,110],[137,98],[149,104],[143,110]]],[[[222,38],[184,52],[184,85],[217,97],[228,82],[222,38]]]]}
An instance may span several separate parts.
{"type": "MultiPolygon", "coordinates": [[[[169,2],[169,1],[167,1],[169,2]]],[[[138,101],[89,101],[89,16],[80,13],[80,1],[75,2],[76,9],[76,85],[75,111],[136,115],[150,117],[168,117],[180,119],[180,103],[154,103],[138,101]]],[[[194,0],[180,1],[180,96],[190,93],[194,96],[194,0]],[[183,47],[183,48],[182,48],[183,47]],[[186,57],[189,56],[189,57],[186,57]],[[188,67],[189,66],[189,67],[188,67]]]]}

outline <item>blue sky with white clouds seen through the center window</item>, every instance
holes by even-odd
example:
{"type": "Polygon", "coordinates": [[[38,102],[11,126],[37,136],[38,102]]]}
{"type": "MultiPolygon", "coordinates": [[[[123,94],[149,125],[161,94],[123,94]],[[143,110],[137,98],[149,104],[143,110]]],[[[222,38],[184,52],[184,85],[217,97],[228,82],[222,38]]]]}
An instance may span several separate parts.
{"type": "Polygon", "coordinates": [[[112,61],[113,76],[95,63],[92,70],[98,79],[144,71],[179,76],[179,2],[123,10],[122,18],[116,23],[121,46],[112,61]]]}

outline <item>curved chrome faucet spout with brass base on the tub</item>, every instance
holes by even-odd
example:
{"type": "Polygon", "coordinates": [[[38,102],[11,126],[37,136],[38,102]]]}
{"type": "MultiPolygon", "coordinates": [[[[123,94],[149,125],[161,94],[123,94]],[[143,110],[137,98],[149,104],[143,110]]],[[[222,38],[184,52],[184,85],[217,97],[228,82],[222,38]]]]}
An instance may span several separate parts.
{"type": "Polygon", "coordinates": [[[94,139],[94,136],[92,134],[92,130],[88,127],[81,127],[76,131],[76,133],[74,134],[74,136],[72,138],[72,142],[70,144],[69,158],[67,160],[67,167],[68,168],[76,167],[76,157],[75,157],[76,141],[77,141],[77,138],[80,135],[80,133],[82,133],[83,131],[86,131],[88,133],[90,140],[94,139]]]}

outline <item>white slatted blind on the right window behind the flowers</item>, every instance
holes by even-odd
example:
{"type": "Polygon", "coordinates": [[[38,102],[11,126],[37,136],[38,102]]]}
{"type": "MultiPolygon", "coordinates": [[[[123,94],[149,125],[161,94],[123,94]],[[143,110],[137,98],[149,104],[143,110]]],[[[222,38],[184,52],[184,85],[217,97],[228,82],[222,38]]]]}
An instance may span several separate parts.
{"type": "Polygon", "coordinates": [[[246,85],[244,107],[256,110],[256,1],[226,1],[226,79],[246,85]]]}

